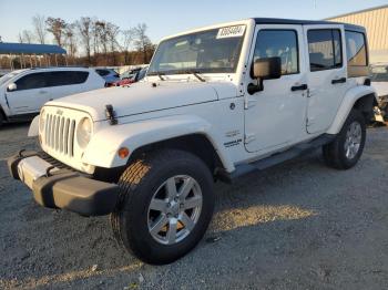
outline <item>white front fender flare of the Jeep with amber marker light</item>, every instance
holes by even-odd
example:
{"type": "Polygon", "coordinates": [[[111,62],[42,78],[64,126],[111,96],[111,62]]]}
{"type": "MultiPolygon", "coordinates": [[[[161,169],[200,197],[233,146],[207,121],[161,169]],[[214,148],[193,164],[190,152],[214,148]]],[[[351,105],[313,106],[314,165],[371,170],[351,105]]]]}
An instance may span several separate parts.
{"type": "Polygon", "coordinates": [[[82,162],[104,168],[124,166],[130,156],[125,159],[120,158],[118,151],[121,147],[127,147],[133,153],[144,145],[190,134],[205,135],[213,144],[225,169],[234,170],[234,165],[223,153],[221,138],[212,125],[193,115],[151,118],[105,127],[93,135],[82,162]]]}

